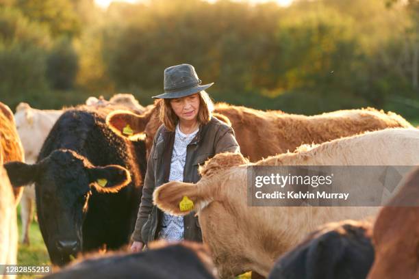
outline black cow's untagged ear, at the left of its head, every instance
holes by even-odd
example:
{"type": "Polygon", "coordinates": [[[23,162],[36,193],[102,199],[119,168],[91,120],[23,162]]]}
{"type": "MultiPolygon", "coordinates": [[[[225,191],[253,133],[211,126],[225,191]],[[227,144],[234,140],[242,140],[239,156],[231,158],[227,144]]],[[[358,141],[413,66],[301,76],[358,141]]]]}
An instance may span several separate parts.
{"type": "Polygon", "coordinates": [[[21,187],[36,182],[39,176],[40,164],[28,165],[19,161],[12,161],[5,163],[4,168],[8,172],[12,186],[21,187]]]}

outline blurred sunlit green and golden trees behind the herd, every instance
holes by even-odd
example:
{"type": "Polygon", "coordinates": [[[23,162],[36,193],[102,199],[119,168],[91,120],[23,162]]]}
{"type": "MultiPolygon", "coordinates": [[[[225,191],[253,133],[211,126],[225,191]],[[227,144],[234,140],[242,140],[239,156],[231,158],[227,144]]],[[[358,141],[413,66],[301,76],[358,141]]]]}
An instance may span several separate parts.
{"type": "Polygon", "coordinates": [[[132,93],[193,64],[215,101],[290,113],[372,106],[419,119],[415,0],[0,0],[0,100],[42,109],[132,93]]]}

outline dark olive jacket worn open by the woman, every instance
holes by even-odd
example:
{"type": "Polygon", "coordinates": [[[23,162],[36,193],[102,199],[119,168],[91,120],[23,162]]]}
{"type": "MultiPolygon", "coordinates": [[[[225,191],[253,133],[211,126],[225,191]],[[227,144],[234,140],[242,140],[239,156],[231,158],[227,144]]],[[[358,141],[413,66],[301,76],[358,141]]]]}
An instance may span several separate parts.
{"type": "MultiPolygon", "coordinates": [[[[162,125],[155,134],[153,147],[147,161],[140,210],[132,235],[134,241],[148,243],[158,235],[162,211],[153,205],[153,191],[156,187],[168,182],[174,142],[175,132],[168,131],[162,125]]],[[[210,122],[201,125],[198,133],[186,148],[183,182],[198,182],[201,178],[198,173],[199,165],[222,152],[240,152],[240,147],[234,137],[233,129],[212,117],[210,122]]],[[[183,217],[183,225],[186,240],[202,241],[198,218],[194,217],[193,212],[183,217]]]]}

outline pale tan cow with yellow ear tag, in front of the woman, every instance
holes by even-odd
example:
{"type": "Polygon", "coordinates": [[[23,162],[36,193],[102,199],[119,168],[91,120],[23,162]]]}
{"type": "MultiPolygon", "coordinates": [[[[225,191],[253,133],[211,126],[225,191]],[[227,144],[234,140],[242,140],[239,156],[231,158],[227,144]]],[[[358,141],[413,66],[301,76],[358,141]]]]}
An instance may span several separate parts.
{"type": "MultiPolygon", "coordinates": [[[[251,165],[416,165],[418,129],[385,129],[334,139],[298,152],[268,157],[251,165]]],[[[210,246],[220,276],[253,270],[267,276],[276,258],[327,222],[377,214],[379,207],[247,207],[247,167],[240,154],[222,153],[208,160],[198,183],[171,181],[153,193],[163,211],[199,215],[203,241],[210,246]],[[194,207],[180,211],[187,196],[194,207]]]]}

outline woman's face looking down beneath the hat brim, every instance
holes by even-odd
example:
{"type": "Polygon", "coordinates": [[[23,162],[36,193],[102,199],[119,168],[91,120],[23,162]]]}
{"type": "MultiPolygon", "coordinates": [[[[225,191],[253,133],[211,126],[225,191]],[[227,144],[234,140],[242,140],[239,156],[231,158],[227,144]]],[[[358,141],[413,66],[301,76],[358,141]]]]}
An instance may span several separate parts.
{"type": "Polygon", "coordinates": [[[199,94],[173,98],[170,100],[170,105],[180,121],[196,120],[199,111],[199,94]]]}

